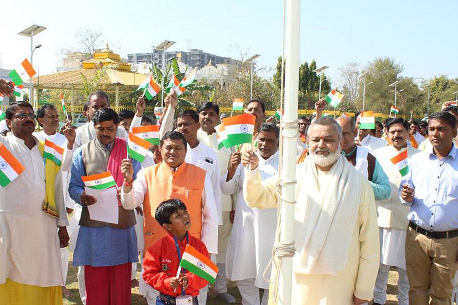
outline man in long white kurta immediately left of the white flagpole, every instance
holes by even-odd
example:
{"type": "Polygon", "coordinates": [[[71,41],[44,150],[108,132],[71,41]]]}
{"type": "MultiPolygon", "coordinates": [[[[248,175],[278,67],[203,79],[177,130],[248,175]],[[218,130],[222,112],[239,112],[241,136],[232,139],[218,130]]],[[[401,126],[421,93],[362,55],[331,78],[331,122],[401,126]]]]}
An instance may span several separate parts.
{"type": "MultiPolygon", "coordinates": [[[[263,180],[278,173],[278,129],[272,123],[262,124],[257,137],[259,168],[263,180]]],[[[227,247],[226,273],[237,281],[242,303],[259,305],[259,288],[265,289],[262,304],[267,304],[269,282],[263,273],[272,258],[277,224],[276,208],[250,208],[243,198],[244,170],[240,154],[231,157],[231,163],[222,183],[225,194],[237,194],[234,226],[227,247]],[[238,158],[237,158],[238,157],[238,158]],[[234,166],[236,170],[234,173],[234,166]],[[243,263],[240,260],[243,259],[243,263]]],[[[270,269],[266,273],[270,278],[270,269]]]]}

